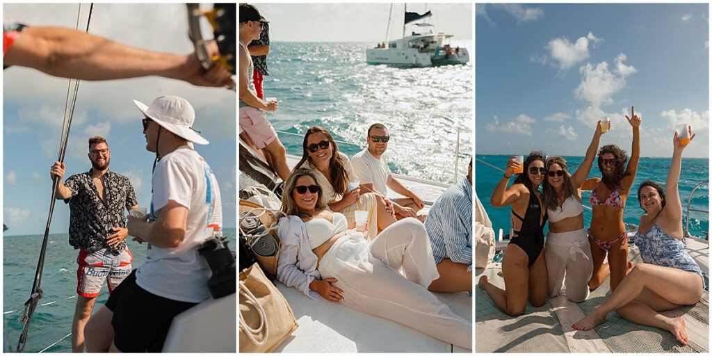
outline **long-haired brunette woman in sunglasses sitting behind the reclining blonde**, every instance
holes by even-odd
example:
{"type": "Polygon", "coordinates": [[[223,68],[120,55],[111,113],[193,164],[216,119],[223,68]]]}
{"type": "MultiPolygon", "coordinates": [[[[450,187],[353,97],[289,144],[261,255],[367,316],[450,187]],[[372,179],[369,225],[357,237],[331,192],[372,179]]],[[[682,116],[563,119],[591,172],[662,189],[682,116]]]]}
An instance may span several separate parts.
{"type": "Polygon", "coordinates": [[[314,172],[329,209],[344,214],[349,224],[355,222],[355,211],[368,211],[369,239],[396,221],[392,209],[387,209],[386,201],[380,194],[360,194],[361,187],[349,190],[349,182],[357,181],[358,178],[349,157],[339,152],[339,147],[327,130],[320,126],[310,127],[304,136],[302,148],[302,159],[295,169],[305,168],[314,172]]]}

